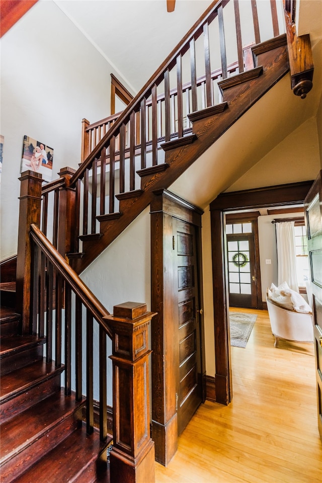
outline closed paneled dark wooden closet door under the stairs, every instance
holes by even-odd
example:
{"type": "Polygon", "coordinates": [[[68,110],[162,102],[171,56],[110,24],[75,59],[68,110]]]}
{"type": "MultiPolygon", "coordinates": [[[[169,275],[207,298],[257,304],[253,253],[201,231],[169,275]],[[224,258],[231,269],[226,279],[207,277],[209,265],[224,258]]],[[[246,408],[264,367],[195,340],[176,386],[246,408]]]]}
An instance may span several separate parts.
{"type": "MultiPolygon", "coordinates": [[[[196,228],[174,219],[174,290],[179,367],[177,377],[178,434],[202,401],[199,270],[196,228]]],[[[201,312],[202,313],[202,312],[201,312]]]]}

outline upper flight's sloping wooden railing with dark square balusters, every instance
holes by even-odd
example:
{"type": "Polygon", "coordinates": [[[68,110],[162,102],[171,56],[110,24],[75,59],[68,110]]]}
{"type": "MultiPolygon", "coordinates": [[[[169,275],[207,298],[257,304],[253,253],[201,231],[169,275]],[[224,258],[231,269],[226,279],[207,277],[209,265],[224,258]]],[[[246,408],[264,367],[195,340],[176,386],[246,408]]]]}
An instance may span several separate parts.
{"type": "MultiPolygon", "coordinates": [[[[262,3],[252,1],[253,18],[248,17],[247,22],[243,13],[246,4],[237,0],[211,4],[121,115],[92,125],[83,121],[82,159],[91,152],[68,177],[68,189],[74,190],[74,238],[65,252],[58,248],[60,253],[68,254],[68,259],[76,259],[72,265],[78,273],[84,269],[77,261],[86,252],[84,247],[99,240],[108,223],[119,219],[144,191],[153,189],[151,177],[162,176],[168,170],[167,151],[195,142],[191,116],[200,110],[210,115],[225,109],[226,105],[220,104],[222,89],[218,83],[244,72],[243,42],[249,46],[265,40],[264,35],[279,35],[278,0],[270,2],[271,23],[267,15],[265,18],[269,34],[263,33],[259,22],[262,3]],[[253,33],[247,37],[250,30],[253,33]],[[121,205],[126,206],[121,210],[121,205]]],[[[164,188],[168,188],[169,179],[167,183],[164,188]]],[[[54,218],[58,215],[57,203],[55,198],[54,218]]],[[[146,199],[140,209],[147,204],[146,199]]],[[[122,221],[115,236],[127,224],[122,221]]],[[[55,221],[54,225],[59,226],[55,221]]],[[[53,236],[55,245],[55,230],[53,236]]],[[[87,259],[85,264],[89,262],[87,259]]]]}

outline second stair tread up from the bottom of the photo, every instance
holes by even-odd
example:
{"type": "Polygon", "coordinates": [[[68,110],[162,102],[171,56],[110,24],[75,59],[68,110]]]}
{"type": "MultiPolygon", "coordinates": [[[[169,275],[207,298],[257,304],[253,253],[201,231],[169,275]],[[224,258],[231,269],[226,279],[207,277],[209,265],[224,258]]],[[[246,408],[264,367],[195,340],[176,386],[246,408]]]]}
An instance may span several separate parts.
{"type": "Polygon", "coordinates": [[[75,401],[73,395],[65,396],[64,389],[40,401],[0,426],[3,438],[0,447],[1,462],[10,459],[24,447],[48,432],[84,404],[75,401]]]}

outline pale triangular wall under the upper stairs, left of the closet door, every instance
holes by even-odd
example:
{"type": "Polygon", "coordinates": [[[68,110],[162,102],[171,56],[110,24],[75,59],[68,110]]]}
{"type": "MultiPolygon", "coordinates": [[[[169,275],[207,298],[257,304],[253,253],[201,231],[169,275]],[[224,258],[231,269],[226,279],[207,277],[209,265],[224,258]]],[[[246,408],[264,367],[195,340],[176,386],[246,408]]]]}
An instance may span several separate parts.
{"type": "MultiPolygon", "coordinates": [[[[146,303],[147,310],[150,310],[150,247],[150,214],[148,207],[81,274],[82,280],[110,313],[113,313],[114,305],[128,301],[146,303]]],[[[96,326],[97,324],[95,324],[96,326]]],[[[97,330],[95,334],[97,336],[97,330]]],[[[94,347],[94,354],[96,355],[98,355],[99,351],[97,344],[98,340],[94,347]]],[[[112,353],[110,340],[108,340],[107,353],[112,353]]],[[[95,358],[94,367],[98,367],[98,357],[95,358]]],[[[94,373],[98,374],[98,371],[94,373]]],[[[112,364],[108,360],[109,405],[112,405],[111,382],[112,364]]],[[[94,399],[99,399],[98,383],[98,379],[95,379],[94,399]]],[[[85,381],[83,381],[83,384],[85,387],[85,381]]]]}

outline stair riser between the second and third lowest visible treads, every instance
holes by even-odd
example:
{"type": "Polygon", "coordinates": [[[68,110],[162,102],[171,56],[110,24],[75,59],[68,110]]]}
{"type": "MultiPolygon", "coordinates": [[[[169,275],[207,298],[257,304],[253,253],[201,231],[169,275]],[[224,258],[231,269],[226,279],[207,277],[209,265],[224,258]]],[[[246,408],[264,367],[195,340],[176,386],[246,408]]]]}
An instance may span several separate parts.
{"type": "Polygon", "coordinates": [[[1,404],[0,417],[2,423],[9,421],[11,418],[22,413],[27,408],[34,406],[50,394],[60,389],[60,373],[55,377],[52,377],[36,387],[29,389],[28,391],[14,397],[8,401],[4,401],[1,404]]]}

